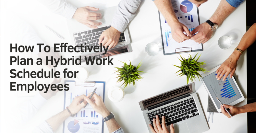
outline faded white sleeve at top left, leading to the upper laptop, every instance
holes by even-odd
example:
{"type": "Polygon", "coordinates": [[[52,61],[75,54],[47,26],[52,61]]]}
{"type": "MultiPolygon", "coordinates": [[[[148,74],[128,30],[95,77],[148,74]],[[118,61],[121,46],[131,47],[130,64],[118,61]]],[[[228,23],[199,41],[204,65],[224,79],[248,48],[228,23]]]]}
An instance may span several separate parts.
{"type": "Polygon", "coordinates": [[[38,2],[46,6],[51,12],[67,19],[71,19],[77,9],[77,7],[67,3],[65,0],[38,0],[38,2]]]}

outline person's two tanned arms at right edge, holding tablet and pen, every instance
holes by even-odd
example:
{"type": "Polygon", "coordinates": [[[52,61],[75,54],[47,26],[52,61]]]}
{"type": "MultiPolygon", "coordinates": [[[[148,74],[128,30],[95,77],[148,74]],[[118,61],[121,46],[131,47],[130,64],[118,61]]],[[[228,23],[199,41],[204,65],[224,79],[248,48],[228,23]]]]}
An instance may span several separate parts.
{"type": "MultiPolygon", "coordinates": [[[[242,52],[246,50],[254,41],[256,40],[256,23],[254,23],[251,28],[243,35],[241,41],[239,42],[237,48],[238,50],[242,50],[241,52],[235,50],[227,60],[225,60],[221,66],[217,69],[216,78],[217,80],[220,80],[222,77],[222,81],[227,78],[228,74],[230,73],[230,78],[234,75],[234,72],[236,71],[237,61],[239,57],[242,55],[242,52]],[[224,76],[223,76],[224,75],[224,76]]],[[[232,116],[237,115],[239,113],[245,113],[245,112],[254,112],[256,111],[256,102],[246,104],[241,107],[237,106],[230,106],[223,104],[224,107],[229,108],[229,112],[232,116]]],[[[230,118],[229,114],[226,112],[226,110],[221,106],[221,112],[225,114],[228,118],[230,118]]]]}

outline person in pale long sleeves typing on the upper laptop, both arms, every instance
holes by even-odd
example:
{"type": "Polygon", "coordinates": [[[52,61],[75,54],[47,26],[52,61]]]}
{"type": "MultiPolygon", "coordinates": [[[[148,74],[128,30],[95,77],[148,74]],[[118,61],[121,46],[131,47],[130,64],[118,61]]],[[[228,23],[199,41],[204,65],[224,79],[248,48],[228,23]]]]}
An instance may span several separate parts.
{"type": "MultiPolygon", "coordinates": [[[[50,0],[39,1],[47,8],[67,19],[75,19],[77,22],[86,25],[89,28],[98,28],[101,23],[94,23],[92,20],[101,19],[100,13],[94,13],[90,11],[98,11],[99,8],[94,7],[80,7],[77,8],[65,0],[50,0]]],[[[118,4],[114,18],[111,21],[111,27],[105,30],[100,38],[99,43],[103,46],[114,48],[119,41],[120,33],[123,33],[129,22],[136,15],[137,8],[140,5],[141,0],[121,0],[118,4]],[[102,39],[104,40],[102,41],[102,39]]]]}

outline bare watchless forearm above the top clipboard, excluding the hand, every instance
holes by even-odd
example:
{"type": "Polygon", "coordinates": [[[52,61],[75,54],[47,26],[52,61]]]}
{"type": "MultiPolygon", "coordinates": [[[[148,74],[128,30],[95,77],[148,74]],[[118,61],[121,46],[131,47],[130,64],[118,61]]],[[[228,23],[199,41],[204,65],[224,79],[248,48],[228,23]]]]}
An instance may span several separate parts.
{"type": "Polygon", "coordinates": [[[169,0],[154,0],[154,3],[167,22],[178,21],[169,0]]]}

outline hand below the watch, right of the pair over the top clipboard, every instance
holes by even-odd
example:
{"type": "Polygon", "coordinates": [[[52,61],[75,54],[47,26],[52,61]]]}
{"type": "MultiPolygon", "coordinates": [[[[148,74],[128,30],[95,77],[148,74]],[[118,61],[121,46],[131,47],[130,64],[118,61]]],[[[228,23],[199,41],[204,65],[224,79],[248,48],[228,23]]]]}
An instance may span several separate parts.
{"type": "Polygon", "coordinates": [[[199,44],[205,43],[210,39],[212,32],[213,31],[211,30],[210,25],[205,22],[190,32],[192,35],[197,33],[196,35],[192,36],[191,39],[195,42],[198,42],[199,44]]]}

